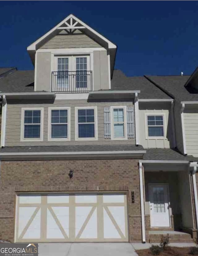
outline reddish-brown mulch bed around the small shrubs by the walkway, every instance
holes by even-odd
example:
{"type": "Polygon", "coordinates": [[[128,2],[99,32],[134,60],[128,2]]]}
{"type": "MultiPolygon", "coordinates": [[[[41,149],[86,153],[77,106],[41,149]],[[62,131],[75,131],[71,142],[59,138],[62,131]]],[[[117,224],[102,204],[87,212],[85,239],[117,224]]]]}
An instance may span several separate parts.
{"type": "MultiPolygon", "coordinates": [[[[159,256],[189,256],[191,255],[190,249],[192,247],[169,247],[162,251],[159,256]]],[[[150,249],[136,250],[139,256],[150,256],[152,255],[150,249]]]]}

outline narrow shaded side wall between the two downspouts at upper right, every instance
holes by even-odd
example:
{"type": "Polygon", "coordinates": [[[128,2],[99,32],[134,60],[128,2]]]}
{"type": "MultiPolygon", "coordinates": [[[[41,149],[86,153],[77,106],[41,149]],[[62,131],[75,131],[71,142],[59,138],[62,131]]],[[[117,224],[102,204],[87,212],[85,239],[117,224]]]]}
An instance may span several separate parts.
{"type": "Polygon", "coordinates": [[[183,134],[182,134],[182,121],[181,121],[181,104],[177,101],[174,103],[174,121],[175,121],[175,137],[177,148],[180,152],[183,150],[183,134]]]}

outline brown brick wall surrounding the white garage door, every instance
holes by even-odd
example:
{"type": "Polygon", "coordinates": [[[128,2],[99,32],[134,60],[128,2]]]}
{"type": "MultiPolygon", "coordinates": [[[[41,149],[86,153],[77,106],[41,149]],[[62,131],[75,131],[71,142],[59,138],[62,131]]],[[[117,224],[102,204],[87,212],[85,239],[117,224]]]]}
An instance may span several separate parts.
{"type": "Polygon", "coordinates": [[[138,160],[2,161],[0,180],[2,239],[14,240],[16,192],[126,191],[129,241],[141,241],[138,160]],[[131,191],[135,203],[131,203],[131,191]]]}

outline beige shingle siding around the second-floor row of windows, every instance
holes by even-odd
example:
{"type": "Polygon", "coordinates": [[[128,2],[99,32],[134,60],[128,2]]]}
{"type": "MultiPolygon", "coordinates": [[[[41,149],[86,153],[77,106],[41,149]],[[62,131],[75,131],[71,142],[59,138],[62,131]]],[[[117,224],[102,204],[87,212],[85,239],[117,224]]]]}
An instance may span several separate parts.
{"type": "Polygon", "coordinates": [[[54,104],[9,104],[7,105],[6,123],[6,147],[11,146],[50,146],[50,145],[118,145],[135,144],[135,139],[111,140],[104,138],[104,107],[127,105],[132,106],[132,102],[114,103],[88,103],[86,100],[56,100],[54,104]],[[48,107],[71,107],[71,141],[48,141],[48,107]],[[75,141],[75,107],[97,106],[98,117],[98,140],[96,141],[75,141]],[[41,142],[21,142],[21,108],[43,107],[44,108],[44,139],[41,142]]]}

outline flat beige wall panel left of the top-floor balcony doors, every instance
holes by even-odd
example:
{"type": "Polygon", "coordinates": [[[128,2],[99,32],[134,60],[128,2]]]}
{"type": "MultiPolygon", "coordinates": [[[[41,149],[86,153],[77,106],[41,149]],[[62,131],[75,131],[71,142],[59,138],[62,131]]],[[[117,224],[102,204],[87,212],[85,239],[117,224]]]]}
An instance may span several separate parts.
{"type": "Polygon", "coordinates": [[[51,53],[37,52],[36,90],[51,91],[51,53]]]}

